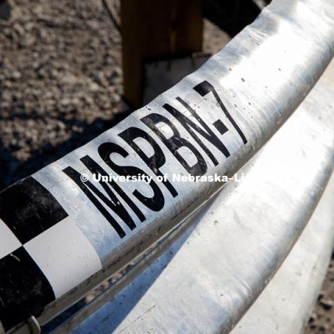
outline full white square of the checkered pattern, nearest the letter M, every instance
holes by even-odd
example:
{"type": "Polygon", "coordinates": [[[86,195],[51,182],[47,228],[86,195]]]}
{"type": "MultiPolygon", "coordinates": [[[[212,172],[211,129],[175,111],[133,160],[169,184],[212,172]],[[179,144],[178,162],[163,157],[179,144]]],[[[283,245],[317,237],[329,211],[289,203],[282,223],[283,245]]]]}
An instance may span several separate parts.
{"type": "Polygon", "coordinates": [[[102,269],[100,258],[72,218],[67,217],[24,244],[56,298],[102,269]]]}

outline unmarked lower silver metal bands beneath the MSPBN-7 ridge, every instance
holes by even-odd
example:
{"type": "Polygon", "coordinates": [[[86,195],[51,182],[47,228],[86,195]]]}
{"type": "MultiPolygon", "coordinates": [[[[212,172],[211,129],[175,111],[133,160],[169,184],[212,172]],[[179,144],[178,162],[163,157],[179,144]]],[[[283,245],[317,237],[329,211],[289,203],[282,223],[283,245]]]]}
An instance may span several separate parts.
{"type": "Polygon", "coordinates": [[[334,61],[243,182],[52,333],[302,333],[334,239],[333,78],[334,61]]]}

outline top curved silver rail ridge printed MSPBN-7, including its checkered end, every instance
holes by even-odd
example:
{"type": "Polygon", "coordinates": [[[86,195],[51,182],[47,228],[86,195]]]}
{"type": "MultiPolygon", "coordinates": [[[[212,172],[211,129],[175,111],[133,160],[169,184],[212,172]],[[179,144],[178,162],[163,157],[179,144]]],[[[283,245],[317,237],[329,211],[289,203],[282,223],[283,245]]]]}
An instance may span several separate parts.
{"type": "Polygon", "coordinates": [[[232,176],[269,141],[333,57],[333,6],[273,1],[200,70],[1,192],[5,330],[32,315],[45,324],[221,189],[172,177],[232,176]]]}

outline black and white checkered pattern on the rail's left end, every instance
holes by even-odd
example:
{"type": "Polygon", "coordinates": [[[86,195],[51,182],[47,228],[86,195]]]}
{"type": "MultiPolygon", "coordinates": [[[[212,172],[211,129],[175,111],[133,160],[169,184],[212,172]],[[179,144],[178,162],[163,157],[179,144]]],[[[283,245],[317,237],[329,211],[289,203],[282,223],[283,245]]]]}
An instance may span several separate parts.
{"type": "Polygon", "coordinates": [[[5,330],[90,277],[95,249],[33,177],[0,193],[0,321],[5,330]]]}

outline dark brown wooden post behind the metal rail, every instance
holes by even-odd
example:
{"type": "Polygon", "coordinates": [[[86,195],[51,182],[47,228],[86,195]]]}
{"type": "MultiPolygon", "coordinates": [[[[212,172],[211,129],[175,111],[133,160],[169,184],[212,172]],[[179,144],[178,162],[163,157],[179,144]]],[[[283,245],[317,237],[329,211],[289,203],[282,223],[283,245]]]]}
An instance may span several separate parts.
{"type": "Polygon", "coordinates": [[[143,102],[143,62],[202,51],[201,0],[121,0],[124,97],[143,102]]]}

